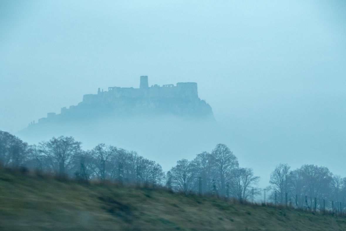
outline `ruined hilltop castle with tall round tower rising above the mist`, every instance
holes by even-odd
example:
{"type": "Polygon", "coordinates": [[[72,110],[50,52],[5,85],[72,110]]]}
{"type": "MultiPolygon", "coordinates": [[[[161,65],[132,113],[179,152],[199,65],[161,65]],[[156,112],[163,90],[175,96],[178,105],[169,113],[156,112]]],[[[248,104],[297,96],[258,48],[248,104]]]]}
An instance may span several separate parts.
{"type": "MultiPolygon", "coordinates": [[[[86,94],[83,101],[70,108],[61,108],[60,114],[47,113],[39,124],[59,121],[93,119],[103,116],[176,115],[214,119],[206,101],[198,98],[197,83],[177,83],[148,86],[148,76],[140,76],[139,88],[108,87],[108,91],[86,94]]],[[[30,125],[30,124],[29,124],[30,125]]]]}

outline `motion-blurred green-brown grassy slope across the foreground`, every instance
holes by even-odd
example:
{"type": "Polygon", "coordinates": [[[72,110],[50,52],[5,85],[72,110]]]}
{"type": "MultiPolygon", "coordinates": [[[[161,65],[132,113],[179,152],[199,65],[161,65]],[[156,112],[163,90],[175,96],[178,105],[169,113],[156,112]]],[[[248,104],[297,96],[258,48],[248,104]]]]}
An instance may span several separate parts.
{"type": "Polygon", "coordinates": [[[0,173],[0,230],[346,230],[346,218],[0,173]]]}

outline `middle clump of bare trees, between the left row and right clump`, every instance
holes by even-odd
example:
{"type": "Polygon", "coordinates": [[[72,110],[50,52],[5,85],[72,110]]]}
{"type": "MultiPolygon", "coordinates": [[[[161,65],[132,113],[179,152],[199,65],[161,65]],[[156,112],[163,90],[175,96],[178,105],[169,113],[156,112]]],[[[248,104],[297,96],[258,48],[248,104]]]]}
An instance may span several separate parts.
{"type": "Polygon", "coordinates": [[[167,186],[185,194],[199,192],[247,200],[260,190],[254,186],[260,177],[251,168],[241,168],[237,157],[224,144],[211,153],[198,154],[192,161],[177,161],[166,175],[167,186]]]}

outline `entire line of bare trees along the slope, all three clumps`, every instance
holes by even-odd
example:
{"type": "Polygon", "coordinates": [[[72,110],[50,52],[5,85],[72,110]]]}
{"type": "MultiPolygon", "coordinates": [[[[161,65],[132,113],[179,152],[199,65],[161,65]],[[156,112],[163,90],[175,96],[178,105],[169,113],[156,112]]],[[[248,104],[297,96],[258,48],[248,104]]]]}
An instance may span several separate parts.
{"type": "MultiPolygon", "coordinates": [[[[99,144],[82,150],[73,137],[53,137],[38,145],[28,145],[8,132],[0,131],[0,161],[4,167],[29,168],[40,173],[68,176],[89,181],[156,184],[184,194],[215,194],[252,200],[261,194],[260,177],[251,168],[239,167],[237,157],[223,144],[193,160],[182,159],[165,174],[155,161],[115,146],[99,144]]],[[[266,188],[268,200],[290,202],[294,207],[344,209],[346,177],[333,176],[327,167],[303,165],[290,170],[287,164],[275,167],[266,188]],[[334,203],[340,203],[334,206],[334,203]],[[332,205],[333,204],[333,205],[332,205]]]]}

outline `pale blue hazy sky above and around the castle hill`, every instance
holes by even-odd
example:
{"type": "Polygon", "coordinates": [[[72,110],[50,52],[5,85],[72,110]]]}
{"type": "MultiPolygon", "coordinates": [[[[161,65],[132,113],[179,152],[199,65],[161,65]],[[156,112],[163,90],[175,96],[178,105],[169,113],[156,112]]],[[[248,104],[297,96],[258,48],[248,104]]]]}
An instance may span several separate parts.
{"type": "Polygon", "coordinates": [[[0,130],[140,75],[197,82],[261,185],[279,163],[346,176],[345,1],[0,0],[0,130]]]}

